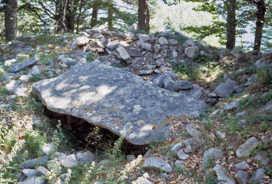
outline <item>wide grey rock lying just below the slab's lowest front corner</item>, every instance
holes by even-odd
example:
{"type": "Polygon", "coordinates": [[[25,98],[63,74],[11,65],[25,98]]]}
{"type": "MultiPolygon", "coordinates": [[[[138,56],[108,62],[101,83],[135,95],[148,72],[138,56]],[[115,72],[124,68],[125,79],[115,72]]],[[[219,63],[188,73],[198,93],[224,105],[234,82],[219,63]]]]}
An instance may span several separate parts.
{"type": "Polygon", "coordinates": [[[157,171],[172,172],[172,167],[161,159],[148,158],[143,164],[145,169],[154,169],[157,171]]]}

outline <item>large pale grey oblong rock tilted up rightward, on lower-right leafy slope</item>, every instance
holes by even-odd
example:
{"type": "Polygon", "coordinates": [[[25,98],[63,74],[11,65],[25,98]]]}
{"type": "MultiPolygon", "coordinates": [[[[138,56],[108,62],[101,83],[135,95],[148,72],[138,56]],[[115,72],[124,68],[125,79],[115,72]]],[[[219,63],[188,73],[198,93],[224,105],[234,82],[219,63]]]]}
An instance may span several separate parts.
{"type": "Polygon", "coordinates": [[[243,143],[237,150],[236,155],[237,157],[241,156],[249,156],[250,151],[255,149],[258,146],[258,139],[256,137],[251,137],[245,143],[243,143]]]}

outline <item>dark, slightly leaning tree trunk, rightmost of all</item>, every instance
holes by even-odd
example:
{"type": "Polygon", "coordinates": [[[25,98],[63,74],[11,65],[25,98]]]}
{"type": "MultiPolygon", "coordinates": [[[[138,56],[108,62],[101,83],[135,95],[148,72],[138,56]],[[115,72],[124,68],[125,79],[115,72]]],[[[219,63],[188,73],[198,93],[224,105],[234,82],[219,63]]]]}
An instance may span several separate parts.
{"type": "Polygon", "coordinates": [[[256,21],[256,30],[255,30],[255,40],[254,40],[254,48],[253,50],[260,51],[261,41],[262,41],[262,33],[263,33],[263,25],[265,22],[265,0],[260,0],[257,2],[257,21],[256,21]]]}

